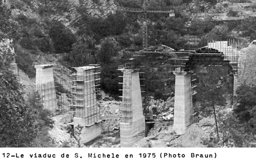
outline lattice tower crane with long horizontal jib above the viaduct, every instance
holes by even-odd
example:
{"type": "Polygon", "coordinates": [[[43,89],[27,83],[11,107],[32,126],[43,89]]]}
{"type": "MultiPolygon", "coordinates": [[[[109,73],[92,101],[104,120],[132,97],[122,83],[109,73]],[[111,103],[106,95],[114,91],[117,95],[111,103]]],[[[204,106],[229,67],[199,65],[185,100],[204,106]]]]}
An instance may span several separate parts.
{"type": "Polygon", "coordinates": [[[83,6],[86,9],[113,10],[113,11],[122,11],[122,12],[142,13],[142,17],[143,17],[143,25],[142,25],[143,48],[148,47],[147,13],[167,13],[167,14],[169,14],[169,17],[175,16],[173,10],[170,10],[170,11],[147,10],[145,0],[143,0],[143,8],[142,9],[119,7],[119,6],[99,6],[99,5],[87,6],[85,4],[77,4],[77,3],[72,3],[72,2],[65,3],[65,2],[55,2],[55,1],[50,1],[48,3],[48,6],[64,6],[64,7],[83,6]]]}

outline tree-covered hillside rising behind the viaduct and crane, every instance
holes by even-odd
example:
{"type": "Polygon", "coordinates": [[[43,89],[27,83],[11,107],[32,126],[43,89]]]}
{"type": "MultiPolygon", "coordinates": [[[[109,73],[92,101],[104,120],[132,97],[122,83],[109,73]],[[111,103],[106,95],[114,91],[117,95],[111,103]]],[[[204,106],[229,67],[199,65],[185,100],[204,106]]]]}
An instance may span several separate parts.
{"type": "MultiPolygon", "coordinates": [[[[33,62],[57,61],[68,68],[105,64],[108,69],[114,69],[117,67],[117,62],[124,63],[123,58],[131,57],[131,53],[126,49],[136,51],[142,48],[142,19],[139,13],[85,10],[83,7],[85,4],[79,6],[78,1],[60,2],[6,1],[6,6],[11,10],[9,20],[14,23],[13,28],[18,29],[18,34],[10,33],[9,36],[3,35],[3,37],[17,40],[16,62],[30,78],[35,77],[35,69],[31,66],[33,62]],[[64,3],[74,3],[74,5],[65,6],[64,3]],[[113,43],[112,51],[102,49],[102,45],[106,42],[113,43]],[[107,51],[110,54],[103,60],[101,55],[107,51]],[[56,55],[56,53],[60,54],[56,55]]],[[[148,10],[172,9],[175,17],[168,17],[168,14],[148,14],[148,45],[164,44],[174,49],[197,49],[204,46],[207,40],[236,39],[246,46],[254,39],[253,34],[250,34],[253,31],[249,33],[241,29],[242,24],[248,26],[253,22],[250,20],[253,18],[248,17],[254,15],[254,3],[241,0],[218,2],[205,0],[202,3],[196,0],[175,2],[167,0],[163,3],[149,1],[148,10]]],[[[96,4],[111,7],[118,5],[142,7],[140,0],[132,3],[100,0],[96,4]]],[[[92,8],[95,4],[93,1],[86,1],[86,5],[92,8]]],[[[251,25],[253,26],[253,23],[251,25]]],[[[109,93],[113,86],[114,84],[104,85],[103,88],[109,93]]],[[[110,93],[114,95],[117,92],[110,93]]]]}

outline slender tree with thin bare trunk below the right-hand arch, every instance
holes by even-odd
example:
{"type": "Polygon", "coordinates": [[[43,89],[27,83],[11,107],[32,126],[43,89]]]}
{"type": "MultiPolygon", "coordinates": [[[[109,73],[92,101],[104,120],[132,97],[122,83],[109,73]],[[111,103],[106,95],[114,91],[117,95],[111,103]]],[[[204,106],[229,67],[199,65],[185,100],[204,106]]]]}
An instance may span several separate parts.
{"type": "Polygon", "coordinates": [[[219,139],[218,121],[216,108],[226,104],[227,95],[227,69],[222,67],[209,66],[204,69],[197,67],[198,71],[198,93],[196,100],[200,104],[201,111],[210,115],[213,110],[217,137],[219,139]],[[204,71],[201,72],[200,71],[204,71]]]}

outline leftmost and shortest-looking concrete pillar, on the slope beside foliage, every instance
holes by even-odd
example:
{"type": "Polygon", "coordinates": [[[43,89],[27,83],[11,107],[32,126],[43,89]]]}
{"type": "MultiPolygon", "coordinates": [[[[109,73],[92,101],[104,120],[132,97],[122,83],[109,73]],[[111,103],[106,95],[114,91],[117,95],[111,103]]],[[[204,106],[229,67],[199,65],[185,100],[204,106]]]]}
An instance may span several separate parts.
{"type": "Polygon", "coordinates": [[[55,114],[58,106],[52,67],[51,64],[35,65],[35,90],[41,95],[44,109],[55,114]]]}

